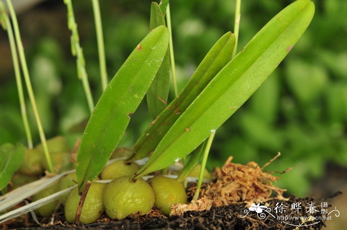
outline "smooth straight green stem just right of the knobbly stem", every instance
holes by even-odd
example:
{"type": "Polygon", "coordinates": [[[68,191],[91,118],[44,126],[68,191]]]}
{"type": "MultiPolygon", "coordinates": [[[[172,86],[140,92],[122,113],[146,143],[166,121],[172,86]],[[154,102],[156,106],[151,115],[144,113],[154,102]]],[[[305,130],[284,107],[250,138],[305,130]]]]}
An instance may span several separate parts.
{"type": "Polygon", "coordinates": [[[108,80],[107,80],[107,70],[106,70],[103,26],[101,23],[99,0],[92,0],[92,3],[93,3],[93,11],[94,11],[96,38],[98,41],[101,85],[103,90],[105,90],[108,84],[108,80]]]}

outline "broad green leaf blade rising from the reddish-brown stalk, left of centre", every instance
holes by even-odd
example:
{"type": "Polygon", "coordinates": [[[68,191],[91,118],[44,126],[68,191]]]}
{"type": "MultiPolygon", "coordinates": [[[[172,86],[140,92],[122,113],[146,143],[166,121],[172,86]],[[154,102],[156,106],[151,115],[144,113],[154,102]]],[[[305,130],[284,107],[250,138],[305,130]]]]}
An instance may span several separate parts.
{"type": "Polygon", "coordinates": [[[84,131],[76,160],[81,192],[104,168],[163,61],[169,30],[159,26],[132,51],[100,97],[84,131]]]}

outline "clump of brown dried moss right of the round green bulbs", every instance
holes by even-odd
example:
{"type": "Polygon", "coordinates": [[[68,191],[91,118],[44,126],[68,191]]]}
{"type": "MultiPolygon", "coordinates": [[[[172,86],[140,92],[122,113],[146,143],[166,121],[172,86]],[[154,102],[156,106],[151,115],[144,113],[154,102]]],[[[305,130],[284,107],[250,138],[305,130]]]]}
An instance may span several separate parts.
{"type": "MultiPolygon", "coordinates": [[[[269,163],[274,159],[269,161],[269,163]]],[[[202,207],[201,205],[201,209],[197,209],[199,204],[206,203],[212,203],[213,206],[220,207],[249,200],[266,201],[274,197],[285,199],[282,195],[286,189],[279,188],[273,184],[279,177],[263,171],[263,168],[269,163],[260,168],[253,161],[247,163],[247,165],[241,165],[231,163],[231,160],[232,157],[229,157],[221,169],[214,169],[212,174],[215,180],[208,184],[203,184],[200,192],[200,197],[202,198],[193,200],[191,204],[174,205],[171,215],[177,215],[191,210],[209,210],[207,208],[208,206],[202,207]]],[[[196,186],[190,187],[188,189],[188,196],[192,197],[195,189],[196,186]]]]}

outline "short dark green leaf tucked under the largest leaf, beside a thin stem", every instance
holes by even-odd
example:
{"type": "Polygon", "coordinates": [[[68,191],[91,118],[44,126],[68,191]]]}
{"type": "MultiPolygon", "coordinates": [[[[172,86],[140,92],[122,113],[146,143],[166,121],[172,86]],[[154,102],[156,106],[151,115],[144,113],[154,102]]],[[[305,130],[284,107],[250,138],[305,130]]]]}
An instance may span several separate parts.
{"type": "Polygon", "coordinates": [[[190,158],[187,164],[184,165],[184,168],[179,173],[176,179],[178,182],[183,182],[184,179],[186,179],[189,176],[189,174],[195,169],[195,167],[199,164],[204,154],[203,150],[205,149],[205,145],[206,145],[206,141],[202,142],[199,145],[199,147],[194,149],[194,151],[189,154],[190,158]]]}

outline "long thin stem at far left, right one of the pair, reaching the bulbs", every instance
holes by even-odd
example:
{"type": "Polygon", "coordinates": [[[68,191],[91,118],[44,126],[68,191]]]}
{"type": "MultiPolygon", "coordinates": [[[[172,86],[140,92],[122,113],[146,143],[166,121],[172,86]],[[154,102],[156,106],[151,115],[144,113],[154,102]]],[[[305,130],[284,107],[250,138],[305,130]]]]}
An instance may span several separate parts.
{"type": "Polygon", "coordinates": [[[7,0],[6,2],[7,2],[7,6],[9,9],[10,15],[11,15],[13,29],[14,29],[14,35],[15,35],[15,39],[16,39],[16,43],[17,43],[17,49],[18,49],[18,53],[19,53],[20,62],[22,65],[24,80],[25,80],[26,88],[27,88],[27,91],[29,94],[31,105],[33,107],[33,111],[34,111],[34,115],[35,115],[35,119],[36,119],[36,123],[37,123],[37,128],[39,130],[41,143],[43,145],[46,161],[48,164],[48,169],[51,173],[54,173],[50,153],[49,153],[48,147],[47,147],[45,132],[44,132],[42,124],[41,124],[41,120],[40,120],[39,112],[37,110],[37,105],[36,105],[36,100],[35,100],[33,88],[31,86],[31,82],[30,82],[28,66],[27,66],[26,59],[25,59],[22,40],[20,38],[20,32],[19,32],[19,26],[18,26],[16,13],[14,12],[11,0],[7,0]]]}

